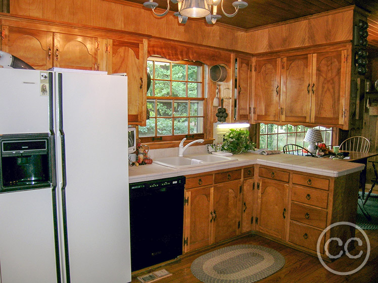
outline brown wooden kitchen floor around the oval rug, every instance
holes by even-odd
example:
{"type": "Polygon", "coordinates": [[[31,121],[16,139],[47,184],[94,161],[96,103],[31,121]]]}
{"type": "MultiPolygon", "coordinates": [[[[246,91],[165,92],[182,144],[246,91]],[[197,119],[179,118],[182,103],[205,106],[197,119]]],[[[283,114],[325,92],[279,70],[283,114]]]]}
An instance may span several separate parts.
{"type": "MultiPolygon", "coordinates": [[[[319,259],[310,256],[303,252],[294,250],[287,246],[270,241],[258,235],[250,234],[243,238],[239,238],[232,242],[226,243],[216,248],[198,252],[190,255],[184,255],[176,262],[168,263],[164,266],[159,266],[154,269],[144,270],[132,275],[132,283],[139,282],[136,276],[144,275],[149,272],[165,268],[173,275],[159,279],[157,283],[167,282],[183,282],[183,283],[200,283],[191,272],[192,262],[199,256],[221,247],[239,244],[254,244],[269,247],[280,252],[286,260],[285,266],[271,276],[258,281],[259,283],[267,282],[280,282],[280,283],[344,283],[344,282],[359,282],[359,283],[372,283],[378,282],[378,230],[365,230],[370,242],[370,255],[366,264],[356,273],[351,275],[337,275],[326,270],[320,263],[319,259]]],[[[356,231],[356,237],[363,239],[363,235],[356,231]]],[[[352,255],[357,255],[358,247],[350,252],[352,255]]],[[[364,251],[366,252],[366,251],[364,251]]],[[[365,253],[363,254],[365,255],[365,253]]],[[[327,263],[327,266],[339,272],[348,272],[356,269],[362,263],[365,256],[360,260],[350,259],[347,256],[342,256],[332,263],[327,263]]],[[[140,282],[139,282],[140,283],[140,282]]]]}

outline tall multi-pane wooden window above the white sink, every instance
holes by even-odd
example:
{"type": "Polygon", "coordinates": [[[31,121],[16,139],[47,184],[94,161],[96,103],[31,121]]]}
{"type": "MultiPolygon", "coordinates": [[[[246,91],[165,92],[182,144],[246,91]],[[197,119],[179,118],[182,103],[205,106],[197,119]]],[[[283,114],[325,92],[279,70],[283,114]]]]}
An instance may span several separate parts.
{"type": "Polygon", "coordinates": [[[150,57],[147,92],[150,119],[139,127],[142,142],[204,137],[204,65],[150,57]]]}

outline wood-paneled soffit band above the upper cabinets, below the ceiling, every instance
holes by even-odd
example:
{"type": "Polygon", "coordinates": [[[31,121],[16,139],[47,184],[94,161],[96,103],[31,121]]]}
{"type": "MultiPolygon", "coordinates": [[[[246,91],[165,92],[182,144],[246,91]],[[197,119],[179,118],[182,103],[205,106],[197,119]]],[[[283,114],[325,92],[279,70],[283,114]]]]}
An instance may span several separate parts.
{"type": "MultiPolygon", "coordinates": [[[[4,0],[3,0],[4,1],[4,0]]],[[[9,0],[14,15],[123,30],[149,37],[178,40],[247,53],[351,40],[353,6],[246,31],[204,19],[178,24],[169,12],[155,16],[149,9],[119,0],[9,0]]]]}

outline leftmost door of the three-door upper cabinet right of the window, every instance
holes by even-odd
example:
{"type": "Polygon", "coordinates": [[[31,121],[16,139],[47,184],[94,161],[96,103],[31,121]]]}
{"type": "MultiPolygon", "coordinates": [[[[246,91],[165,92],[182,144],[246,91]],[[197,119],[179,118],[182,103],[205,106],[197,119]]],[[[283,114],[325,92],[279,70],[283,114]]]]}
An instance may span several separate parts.
{"type": "Polygon", "coordinates": [[[255,121],[279,121],[280,58],[256,60],[255,121]]]}

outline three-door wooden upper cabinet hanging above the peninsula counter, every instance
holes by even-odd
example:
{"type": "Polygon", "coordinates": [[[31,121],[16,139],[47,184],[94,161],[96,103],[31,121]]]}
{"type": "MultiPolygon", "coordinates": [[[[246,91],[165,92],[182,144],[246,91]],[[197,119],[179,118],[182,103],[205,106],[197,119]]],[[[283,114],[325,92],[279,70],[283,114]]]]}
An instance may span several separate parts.
{"type": "Polygon", "coordinates": [[[254,58],[254,122],[347,130],[350,48],[346,44],[254,58]]]}

